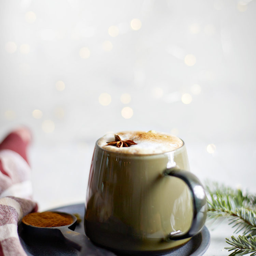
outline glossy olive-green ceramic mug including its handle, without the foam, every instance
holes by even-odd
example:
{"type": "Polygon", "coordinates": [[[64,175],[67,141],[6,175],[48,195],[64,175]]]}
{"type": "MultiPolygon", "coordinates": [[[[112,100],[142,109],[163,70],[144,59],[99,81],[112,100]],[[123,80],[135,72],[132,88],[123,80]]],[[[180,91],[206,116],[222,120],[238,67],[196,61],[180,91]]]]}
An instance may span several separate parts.
{"type": "Polygon", "coordinates": [[[85,203],[85,232],[118,253],[160,254],[200,232],[207,215],[202,184],[186,147],[134,155],[96,142],[85,203]]]}

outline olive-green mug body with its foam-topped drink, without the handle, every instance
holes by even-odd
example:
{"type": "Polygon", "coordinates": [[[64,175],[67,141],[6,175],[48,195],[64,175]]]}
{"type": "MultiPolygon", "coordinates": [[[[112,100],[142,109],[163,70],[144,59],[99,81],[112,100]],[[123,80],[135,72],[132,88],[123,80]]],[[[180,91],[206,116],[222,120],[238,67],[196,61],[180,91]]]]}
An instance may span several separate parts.
{"type": "Polygon", "coordinates": [[[193,219],[188,186],[164,175],[172,167],[189,171],[184,142],[173,135],[128,131],[100,138],[89,175],[86,235],[132,254],[165,253],[187,242],[166,241],[171,232],[189,230],[193,219]]]}

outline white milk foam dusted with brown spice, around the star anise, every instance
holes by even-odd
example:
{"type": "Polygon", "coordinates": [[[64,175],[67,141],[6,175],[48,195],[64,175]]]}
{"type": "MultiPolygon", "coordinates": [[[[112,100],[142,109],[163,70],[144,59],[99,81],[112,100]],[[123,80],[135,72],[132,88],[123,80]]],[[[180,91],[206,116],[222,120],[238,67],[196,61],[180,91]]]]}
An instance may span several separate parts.
{"type": "Polygon", "coordinates": [[[117,133],[107,133],[98,140],[98,145],[106,150],[125,154],[160,154],[173,151],[183,145],[183,141],[178,137],[162,132],[155,131],[123,131],[117,133]],[[121,140],[132,140],[137,145],[130,147],[106,146],[108,142],[115,141],[115,134],[121,140]]]}

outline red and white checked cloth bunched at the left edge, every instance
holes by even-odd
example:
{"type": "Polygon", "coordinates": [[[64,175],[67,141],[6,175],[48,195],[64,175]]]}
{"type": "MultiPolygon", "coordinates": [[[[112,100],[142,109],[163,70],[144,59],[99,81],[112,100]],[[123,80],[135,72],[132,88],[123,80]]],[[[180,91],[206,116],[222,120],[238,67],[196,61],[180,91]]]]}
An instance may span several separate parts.
{"type": "Polygon", "coordinates": [[[17,226],[24,215],[37,210],[32,199],[31,169],[26,150],[27,129],[10,133],[0,144],[0,256],[26,256],[17,226]]]}

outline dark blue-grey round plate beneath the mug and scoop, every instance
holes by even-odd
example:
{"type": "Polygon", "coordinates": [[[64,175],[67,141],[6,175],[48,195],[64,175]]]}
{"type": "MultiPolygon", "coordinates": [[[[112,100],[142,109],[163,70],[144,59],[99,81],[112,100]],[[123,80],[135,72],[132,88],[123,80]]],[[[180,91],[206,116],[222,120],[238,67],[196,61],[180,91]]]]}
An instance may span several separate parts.
{"type": "MultiPolygon", "coordinates": [[[[84,216],[85,205],[74,204],[68,205],[60,208],[51,209],[50,211],[61,211],[68,213],[79,213],[82,217],[82,222],[76,226],[75,231],[84,234],[84,216]]],[[[69,255],[79,255],[79,251],[74,248],[68,247],[61,240],[52,239],[31,239],[22,230],[22,226],[18,227],[20,242],[27,253],[28,256],[69,256],[69,255]]],[[[171,252],[163,254],[164,256],[201,256],[203,255],[210,245],[210,233],[206,227],[203,227],[201,232],[191,238],[185,245],[177,248],[171,252]]],[[[98,247],[98,250],[102,250],[102,255],[104,255],[104,249],[98,247]]],[[[96,254],[95,254],[96,255],[96,254]]],[[[98,254],[97,254],[98,255],[98,254]]],[[[89,256],[89,255],[87,255],[89,256]]],[[[90,253],[90,256],[91,255],[90,253]]],[[[121,255],[119,255],[121,256],[121,255]]]]}

